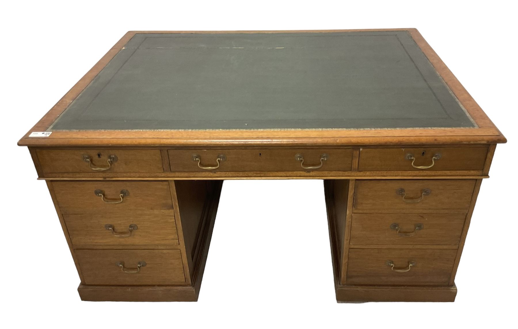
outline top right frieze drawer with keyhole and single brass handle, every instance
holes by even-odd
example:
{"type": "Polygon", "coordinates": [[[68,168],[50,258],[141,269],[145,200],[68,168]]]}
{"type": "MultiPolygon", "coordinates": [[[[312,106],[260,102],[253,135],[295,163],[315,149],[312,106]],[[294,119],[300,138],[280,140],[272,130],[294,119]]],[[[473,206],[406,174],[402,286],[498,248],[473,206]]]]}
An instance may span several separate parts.
{"type": "Polygon", "coordinates": [[[482,170],[487,147],[362,148],[358,171],[482,170]]]}

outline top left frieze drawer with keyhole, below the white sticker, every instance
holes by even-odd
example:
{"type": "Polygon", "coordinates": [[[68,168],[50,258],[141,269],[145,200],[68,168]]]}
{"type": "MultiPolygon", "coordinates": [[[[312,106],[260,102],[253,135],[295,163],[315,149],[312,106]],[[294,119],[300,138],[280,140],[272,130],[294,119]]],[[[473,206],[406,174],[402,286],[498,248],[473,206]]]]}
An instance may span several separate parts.
{"type": "Polygon", "coordinates": [[[158,149],[38,149],[44,173],[164,172],[158,149]]]}

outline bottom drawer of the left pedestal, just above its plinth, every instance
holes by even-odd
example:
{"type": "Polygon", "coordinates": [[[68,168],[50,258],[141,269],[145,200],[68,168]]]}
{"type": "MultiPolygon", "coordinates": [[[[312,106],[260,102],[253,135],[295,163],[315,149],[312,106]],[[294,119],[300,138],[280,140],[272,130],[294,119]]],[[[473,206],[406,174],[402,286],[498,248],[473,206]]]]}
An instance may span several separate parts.
{"type": "Polygon", "coordinates": [[[179,249],[76,249],[75,253],[85,285],[178,285],[185,282],[179,249]]]}

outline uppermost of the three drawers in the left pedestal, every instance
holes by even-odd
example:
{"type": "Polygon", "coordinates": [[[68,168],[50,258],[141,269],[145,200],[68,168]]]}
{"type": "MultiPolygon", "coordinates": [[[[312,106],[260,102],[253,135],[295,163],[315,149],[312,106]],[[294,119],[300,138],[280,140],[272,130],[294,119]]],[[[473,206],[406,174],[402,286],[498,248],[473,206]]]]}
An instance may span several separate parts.
{"type": "Polygon", "coordinates": [[[63,214],[133,214],[172,210],[167,182],[67,181],[52,182],[52,187],[63,214]]]}

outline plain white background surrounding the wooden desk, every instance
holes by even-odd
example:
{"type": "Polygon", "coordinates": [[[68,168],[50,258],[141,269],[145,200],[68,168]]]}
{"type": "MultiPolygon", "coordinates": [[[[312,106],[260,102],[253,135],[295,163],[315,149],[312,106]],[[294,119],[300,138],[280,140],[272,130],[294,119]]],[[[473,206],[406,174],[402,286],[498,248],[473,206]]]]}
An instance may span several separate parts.
{"type": "MultiPolygon", "coordinates": [[[[516,312],[511,2],[25,2],[1,9],[5,327],[458,327],[516,312]],[[508,138],[482,184],[455,303],[337,304],[322,181],[226,181],[197,303],[81,302],[59,220],[16,142],[128,30],[416,27],[508,138]]],[[[508,322],[510,325],[510,323],[508,322]]]]}

